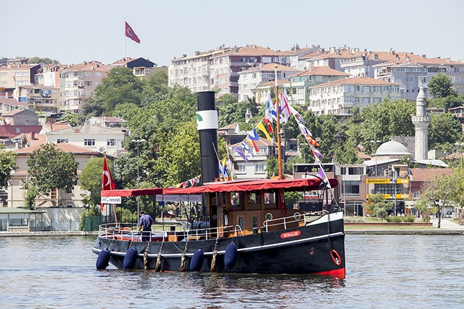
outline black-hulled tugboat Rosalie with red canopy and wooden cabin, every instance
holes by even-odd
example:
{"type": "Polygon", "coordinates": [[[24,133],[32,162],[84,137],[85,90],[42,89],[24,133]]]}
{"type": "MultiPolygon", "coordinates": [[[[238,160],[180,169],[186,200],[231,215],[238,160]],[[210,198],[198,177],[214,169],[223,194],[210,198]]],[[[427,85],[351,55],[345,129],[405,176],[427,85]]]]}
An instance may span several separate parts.
{"type": "MultiPolygon", "coordinates": [[[[207,95],[210,98],[206,106],[215,111],[211,104],[214,93],[212,99],[211,94],[207,95]]],[[[202,104],[199,98],[198,101],[200,111],[202,104]]],[[[206,144],[211,139],[214,143],[217,133],[213,130],[208,136],[206,144]]],[[[186,188],[101,192],[102,199],[154,196],[164,203],[198,203],[202,216],[183,229],[155,229],[156,232],[150,233],[150,241],[141,241],[141,235],[127,224],[100,225],[92,248],[98,254],[98,269],[111,263],[118,269],[159,272],[313,274],[345,278],[343,212],[332,193],[338,185],[337,179],[307,174],[301,179],[219,181],[217,164],[206,167],[205,162],[217,160],[204,160],[207,156],[202,149],[207,147],[202,146],[201,131],[200,147],[202,177],[209,173],[207,177],[213,181],[186,188]],[[303,212],[286,205],[287,191],[312,196],[312,211],[303,212]]]]}

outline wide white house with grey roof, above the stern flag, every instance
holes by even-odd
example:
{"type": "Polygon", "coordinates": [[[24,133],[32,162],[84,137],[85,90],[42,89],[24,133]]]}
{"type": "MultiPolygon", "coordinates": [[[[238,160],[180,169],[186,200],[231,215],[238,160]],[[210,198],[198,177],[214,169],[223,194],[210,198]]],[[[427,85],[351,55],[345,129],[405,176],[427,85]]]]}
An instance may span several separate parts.
{"type": "Polygon", "coordinates": [[[67,142],[91,151],[103,152],[117,158],[123,151],[122,142],[127,138],[127,131],[118,128],[97,127],[84,124],[78,127],[46,132],[47,142],[60,144],[67,142]]]}

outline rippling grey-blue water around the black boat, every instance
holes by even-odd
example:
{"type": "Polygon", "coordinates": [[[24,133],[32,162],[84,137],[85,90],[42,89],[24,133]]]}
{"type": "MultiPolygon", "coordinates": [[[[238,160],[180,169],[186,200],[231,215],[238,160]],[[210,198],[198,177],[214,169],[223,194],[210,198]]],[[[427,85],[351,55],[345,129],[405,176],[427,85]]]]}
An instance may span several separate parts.
{"type": "Polygon", "coordinates": [[[0,237],[0,308],[464,308],[464,236],[346,236],[346,279],[95,269],[93,237],[0,237]]]}

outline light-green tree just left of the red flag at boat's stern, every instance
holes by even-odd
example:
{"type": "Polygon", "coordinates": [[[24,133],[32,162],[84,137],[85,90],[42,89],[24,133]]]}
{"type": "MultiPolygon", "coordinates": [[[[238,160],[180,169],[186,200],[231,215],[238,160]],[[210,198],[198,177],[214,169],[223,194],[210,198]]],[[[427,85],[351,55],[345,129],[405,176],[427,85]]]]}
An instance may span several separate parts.
{"type": "MultiPolygon", "coordinates": [[[[87,160],[82,173],[79,176],[79,186],[81,189],[90,192],[84,196],[84,203],[91,206],[100,205],[102,191],[102,171],[104,158],[92,158],[87,160]]],[[[108,160],[109,169],[111,162],[108,160]]]]}

